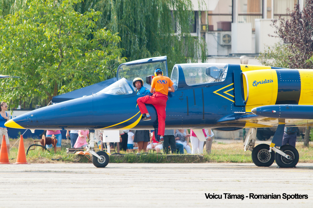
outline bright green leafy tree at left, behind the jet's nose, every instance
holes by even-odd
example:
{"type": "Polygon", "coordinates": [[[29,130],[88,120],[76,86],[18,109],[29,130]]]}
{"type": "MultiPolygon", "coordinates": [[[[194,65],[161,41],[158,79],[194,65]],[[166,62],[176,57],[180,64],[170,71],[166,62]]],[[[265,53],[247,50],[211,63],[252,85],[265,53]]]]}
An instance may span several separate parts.
{"type": "Polygon", "coordinates": [[[14,106],[30,96],[51,100],[115,75],[120,38],[95,29],[100,12],[75,12],[78,2],[33,0],[0,19],[0,73],[20,77],[2,80],[5,100],[14,106]]]}

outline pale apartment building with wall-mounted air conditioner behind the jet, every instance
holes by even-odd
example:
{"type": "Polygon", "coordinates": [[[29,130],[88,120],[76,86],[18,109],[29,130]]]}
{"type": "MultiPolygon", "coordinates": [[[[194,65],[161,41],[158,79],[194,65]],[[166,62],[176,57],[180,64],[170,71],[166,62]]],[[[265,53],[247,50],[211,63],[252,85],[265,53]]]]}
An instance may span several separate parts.
{"type": "Polygon", "coordinates": [[[239,63],[246,55],[249,64],[266,46],[279,42],[270,26],[279,15],[288,18],[296,3],[301,10],[305,0],[191,0],[195,10],[191,34],[203,37],[207,43],[209,62],[239,63]]]}

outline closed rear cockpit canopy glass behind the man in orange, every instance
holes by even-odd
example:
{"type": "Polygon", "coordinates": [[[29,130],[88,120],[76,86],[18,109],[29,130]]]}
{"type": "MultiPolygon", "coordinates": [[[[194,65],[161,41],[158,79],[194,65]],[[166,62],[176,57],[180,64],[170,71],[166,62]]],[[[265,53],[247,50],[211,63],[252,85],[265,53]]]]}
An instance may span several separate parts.
{"type": "Polygon", "coordinates": [[[227,75],[228,64],[187,63],[180,64],[187,85],[222,82],[227,75]]]}

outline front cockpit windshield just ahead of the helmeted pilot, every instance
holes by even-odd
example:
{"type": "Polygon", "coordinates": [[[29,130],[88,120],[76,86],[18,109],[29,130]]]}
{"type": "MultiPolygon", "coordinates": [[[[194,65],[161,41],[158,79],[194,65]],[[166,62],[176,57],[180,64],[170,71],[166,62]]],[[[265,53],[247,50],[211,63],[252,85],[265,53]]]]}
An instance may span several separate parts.
{"type": "Polygon", "coordinates": [[[114,82],[108,87],[105,87],[99,93],[105,93],[109,95],[128,95],[133,93],[132,87],[129,85],[125,78],[120,79],[117,82],[114,82]]]}

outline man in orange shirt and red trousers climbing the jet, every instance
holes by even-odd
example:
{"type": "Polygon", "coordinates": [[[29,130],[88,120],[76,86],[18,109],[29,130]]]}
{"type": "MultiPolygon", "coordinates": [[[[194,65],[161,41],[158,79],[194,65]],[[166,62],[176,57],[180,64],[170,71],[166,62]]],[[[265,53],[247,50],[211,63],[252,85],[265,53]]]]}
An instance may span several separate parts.
{"type": "Polygon", "coordinates": [[[160,139],[164,136],[165,130],[165,108],[166,102],[168,100],[167,94],[168,92],[174,92],[173,82],[169,77],[164,77],[161,69],[157,68],[154,71],[155,77],[152,79],[151,90],[153,93],[152,96],[146,95],[144,97],[139,97],[137,99],[137,103],[139,106],[139,110],[141,114],[146,114],[145,117],[142,118],[143,121],[150,121],[151,117],[146,108],[145,103],[152,104],[156,108],[156,113],[158,116],[158,135],[160,135],[160,139]]]}

